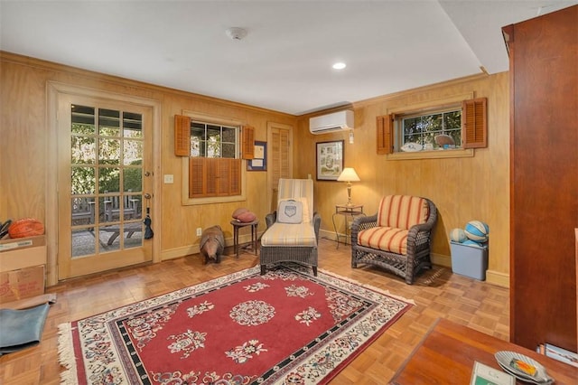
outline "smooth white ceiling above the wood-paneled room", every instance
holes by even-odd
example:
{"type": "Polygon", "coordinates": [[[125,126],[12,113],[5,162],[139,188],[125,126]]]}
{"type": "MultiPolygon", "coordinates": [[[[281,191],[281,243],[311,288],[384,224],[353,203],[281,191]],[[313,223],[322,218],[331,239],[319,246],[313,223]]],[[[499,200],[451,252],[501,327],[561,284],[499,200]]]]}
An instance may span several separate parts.
{"type": "Polygon", "coordinates": [[[0,50],[301,115],[508,70],[501,27],[575,4],[0,0],[0,50]]]}

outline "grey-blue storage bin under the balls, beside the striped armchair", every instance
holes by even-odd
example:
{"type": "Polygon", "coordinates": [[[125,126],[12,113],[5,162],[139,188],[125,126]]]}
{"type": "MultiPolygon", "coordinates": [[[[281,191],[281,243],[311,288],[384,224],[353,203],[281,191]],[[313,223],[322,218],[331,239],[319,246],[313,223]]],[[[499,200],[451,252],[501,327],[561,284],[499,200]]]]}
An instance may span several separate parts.
{"type": "Polygon", "coordinates": [[[452,249],[452,272],[461,276],[486,280],[488,270],[488,246],[478,248],[463,245],[458,242],[450,242],[452,249]]]}

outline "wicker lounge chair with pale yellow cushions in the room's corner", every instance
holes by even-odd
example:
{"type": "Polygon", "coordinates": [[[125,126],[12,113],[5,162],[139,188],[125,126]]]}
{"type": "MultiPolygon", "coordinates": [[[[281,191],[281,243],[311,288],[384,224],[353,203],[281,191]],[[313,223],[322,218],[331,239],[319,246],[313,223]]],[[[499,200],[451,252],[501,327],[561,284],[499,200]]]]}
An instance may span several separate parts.
{"type": "Polygon", "coordinates": [[[303,203],[301,223],[280,223],[277,211],[266,215],[267,229],[261,237],[261,274],[266,266],[279,262],[297,262],[311,266],[317,276],[317,244],[321,217],[313,212],[313,181],[311,179],[279,179],[278,203],[294,199],[303,203]]]}

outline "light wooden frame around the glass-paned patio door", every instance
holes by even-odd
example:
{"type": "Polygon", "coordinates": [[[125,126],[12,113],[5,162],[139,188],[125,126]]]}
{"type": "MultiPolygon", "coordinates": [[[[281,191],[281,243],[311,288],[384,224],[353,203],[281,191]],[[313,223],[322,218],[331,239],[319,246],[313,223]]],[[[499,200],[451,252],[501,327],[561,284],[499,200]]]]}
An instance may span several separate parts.
{"type": "MultiPolygon", "coordinates": [[[[70,95],[77,97],[89,97],[95,99],[117,100],[124,103],[133,103],[135,105],[152,108],[152,173],[153,173],[153,192],[152,192],[152,212],[153,219],[157,219],[160,224],[161,220],[161,102],[155,99],[145,99],[132,95],[118,94],[115,92],[103,91],[100,89],[89,89],[80,86],[74,86],[58,81],[49,81],[47,84],[47,127],[48,135],[46,144],[46,246],[47,246],[47,267],[46,267],[46,284],[53,286],[58,283],[58,103],[61,95],[70,95]],[[156,177],[155,177],[156,176],[156,177]]],[[[161,226],[154,227],[153,242],[153,263],[161,261],[161,226]]]]}

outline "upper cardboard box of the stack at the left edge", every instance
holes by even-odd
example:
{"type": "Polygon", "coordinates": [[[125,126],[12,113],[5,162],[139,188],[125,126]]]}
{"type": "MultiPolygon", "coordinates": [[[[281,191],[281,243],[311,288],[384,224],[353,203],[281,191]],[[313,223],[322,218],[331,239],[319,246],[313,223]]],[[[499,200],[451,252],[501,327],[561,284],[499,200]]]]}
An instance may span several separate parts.
{"type": "Polygon", "coordinates": [[[46,264],[46,237],[0,240],[0,272],[46,264]]]}

